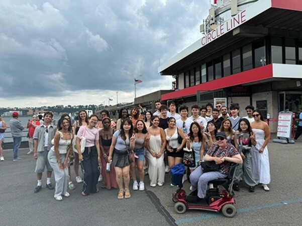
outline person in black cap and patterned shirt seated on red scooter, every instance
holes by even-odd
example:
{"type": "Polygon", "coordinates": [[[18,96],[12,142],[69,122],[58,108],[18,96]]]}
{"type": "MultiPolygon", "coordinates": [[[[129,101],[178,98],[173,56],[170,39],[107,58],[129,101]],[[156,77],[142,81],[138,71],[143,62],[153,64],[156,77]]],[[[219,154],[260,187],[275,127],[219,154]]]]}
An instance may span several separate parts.
{"type": "Polygon", "coordinates": [[[218,171],[204,173],[201,166],[197,167],[190,174],[192,192],[186,197],[188,202],[198,202],[206,197],[208,182],[211,180],[226,178],[231,162],[242,164],[242,158],[237,149],[227,143],[227,136],[224,132],[218,132],[215,143],[207,152],[205,161],[215,161],[220,165],[218,171]]]}

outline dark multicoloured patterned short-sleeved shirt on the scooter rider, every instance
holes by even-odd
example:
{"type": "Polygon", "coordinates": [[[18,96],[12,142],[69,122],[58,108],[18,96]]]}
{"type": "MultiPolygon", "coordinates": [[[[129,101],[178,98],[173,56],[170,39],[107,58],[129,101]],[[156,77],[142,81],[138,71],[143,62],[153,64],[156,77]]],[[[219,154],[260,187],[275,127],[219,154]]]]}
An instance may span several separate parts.
{"type": "MultiPolygon", "coordinates": [[[[207,152],[207,155],[212,156],[213,152],[215,152],[214,157],[218,157],[218,158],[233,157],[239,154],[237,149],[229,143],[227,143],[227,146],[223,149],[220,148],[218,144],[214,144],[207,152]]],[[[222,174],[228,174],[230,170],[230,164],[231,162],[228,161],[224,161],[223,163],[221,163],[219,172],[221,172],[222,174]]]]}

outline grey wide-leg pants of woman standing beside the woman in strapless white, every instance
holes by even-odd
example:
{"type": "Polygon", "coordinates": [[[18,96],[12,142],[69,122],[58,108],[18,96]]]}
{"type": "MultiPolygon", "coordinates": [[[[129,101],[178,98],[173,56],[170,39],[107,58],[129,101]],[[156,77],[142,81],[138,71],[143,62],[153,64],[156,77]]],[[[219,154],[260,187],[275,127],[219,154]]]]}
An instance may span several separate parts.
{"type": "Polygon", "coordinates": [[[251,158],[252,158],[251,153],[247,152],[245,154],[245,159],[243,160],[243,164],[238,165],[236,168],[234,182],[238,183],[241,174],[243,173],[243,179],[247,185],[252,187],[257,185],[257,182],[252,173],[251,158]]]}

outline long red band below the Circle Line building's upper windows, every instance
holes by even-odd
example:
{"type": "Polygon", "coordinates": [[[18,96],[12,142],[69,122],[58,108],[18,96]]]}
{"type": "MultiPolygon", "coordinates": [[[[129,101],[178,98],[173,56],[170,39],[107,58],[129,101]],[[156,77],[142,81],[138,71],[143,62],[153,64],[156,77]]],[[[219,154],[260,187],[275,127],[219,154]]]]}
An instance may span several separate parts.
{"type": "Polygon", "coordinates": [[[197,90],[201,92],[212,91],[212,90],[222,89],[234,85],[241,85],[249,82],[260,81],[272,77],[273,77],[272,64],[268,64],[262,67],[229,75],[227,77],[219,78],[203,84],[194,85],[177,91],[162,94],[161,100],[168,100],[168,99],[175,99],[185,96],[196,95],[197,90]]]}

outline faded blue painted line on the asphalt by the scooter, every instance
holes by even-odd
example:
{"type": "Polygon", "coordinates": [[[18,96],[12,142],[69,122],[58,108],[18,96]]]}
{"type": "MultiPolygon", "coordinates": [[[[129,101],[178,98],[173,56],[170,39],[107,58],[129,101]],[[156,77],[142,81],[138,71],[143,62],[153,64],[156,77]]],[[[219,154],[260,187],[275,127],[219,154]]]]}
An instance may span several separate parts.
{"type": "MultiPolygon", "coordinates": [[[[296,203],[296,202],[302,202],[302,198],[290,199],[290,200],[285,200],[285,201],[281,201],[281,202],[272,202],[272,203],[265,204],[265,205],[255,205],[255,206],[250,206],[250,207],[246,207],[246,208],[241,208],[241,209],[237,209],[237,213],[265,209],[265,208],[270,208],[270,207],[280,206],[280,205],[287,205],[287,204],[296,203]]],[[[205,219],[210,219],[210,218],[220,217],[220,216],[223,216],[223,214],[222,213],[209,213],[209,214],[203,215],[203,216],[188,217],[188,218],[175,220],[175,223],[179,225],[182,223],[188,223],[188,222],[197,221],[197,220],[205,220],[205,219]]]]}

